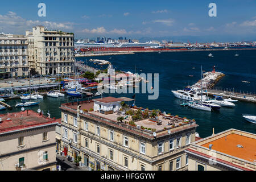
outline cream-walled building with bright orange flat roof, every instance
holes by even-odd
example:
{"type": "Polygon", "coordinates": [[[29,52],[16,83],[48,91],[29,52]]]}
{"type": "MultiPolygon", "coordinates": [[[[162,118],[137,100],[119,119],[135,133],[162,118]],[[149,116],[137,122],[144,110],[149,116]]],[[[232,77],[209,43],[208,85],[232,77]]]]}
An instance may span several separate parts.
{"type": "Polygon", "coordinates": [[[185,150],[189,171],[255,171],[256,135],[229,129],[197,140],[185,150]]]}

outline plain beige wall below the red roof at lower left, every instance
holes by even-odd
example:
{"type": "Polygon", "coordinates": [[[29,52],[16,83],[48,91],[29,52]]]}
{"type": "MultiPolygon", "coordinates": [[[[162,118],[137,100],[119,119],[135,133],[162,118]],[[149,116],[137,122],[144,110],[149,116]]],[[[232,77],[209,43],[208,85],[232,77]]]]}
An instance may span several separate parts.
{"type": "Polygon", "coordinates": [[[37,130],[24,130],[10,135],[0,135],[0,171],[15,171],[19,158],[24,158],[23,169],[41,170],[56,168],[55,125],[37,130]],[[43,141],[43,133],[48,132],[43,141]],[[23,146],[18,146],[18,138],[24,137],[23,146]],[[24,151],[23,150],[27,150],[24,151]],[[48,152],[48,160],[43,161],[43,152],[48,152]]]}

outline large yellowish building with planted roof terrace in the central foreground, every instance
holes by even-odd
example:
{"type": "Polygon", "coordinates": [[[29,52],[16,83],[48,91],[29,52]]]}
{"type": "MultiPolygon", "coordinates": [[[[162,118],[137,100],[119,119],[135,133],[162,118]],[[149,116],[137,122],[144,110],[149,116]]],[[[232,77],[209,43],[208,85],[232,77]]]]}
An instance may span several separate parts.
{"type": "Polygon", "coordinates": [[[96,171],[182,171],[195,142],[195,120],[105,97],[62,104],[61,153],[96,171]],[[129,113],[129,114],[128,114],[129,113]],[[133,114],[134,113],[134,114],[133,114]],[[138,117],[138,118],[137,118],[138,117]]]}

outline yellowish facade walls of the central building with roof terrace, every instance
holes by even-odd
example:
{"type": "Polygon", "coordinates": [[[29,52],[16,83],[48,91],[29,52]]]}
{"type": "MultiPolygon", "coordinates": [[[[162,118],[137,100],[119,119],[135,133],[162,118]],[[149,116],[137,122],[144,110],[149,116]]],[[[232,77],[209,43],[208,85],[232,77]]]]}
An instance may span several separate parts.
{"type": "MultiPolygon", "coordinates": [[[[81,117],[80,125],[78,127],[73,126],[73,118],[77,118],[77,115],[68,112],[62,112],[62,139],[61,150],[64,151],[64,146],[68,147],[68,155],[75,156],[75,152],[82,157],[82,163],[84,164],[85,155],[89,156],[89,161],[96,163],[98,160],[101,162],[101,166],[105,166],[105,170],[108,166],[113,167],[115,170],[141,170],[141,165],[144,166],[146,171],[158,170],[159,166],[162,166],[162,170],[170,170],[169,164],[173,162],[172,170],[187,170],[186,154],[184,150],[188,148],[189,144],[185,144],[185,137],[189,133],[191,134],[191,142],[195,141],[195,129],[191,131],[185,131],[178,135],[171,135],[171,137],[160,140],[164,142],[163,154],[158,154],[159,141],[151,141],[149,139],[143,139],[138,135],[128,133],[126,131],[119,130],[112,126],[104,125],[100,122],[93,121],[88,118],[81,117]],[[64,122],[64,114],[68,115],[68,123],[64,122]],[[85,129],[85,122],[88,123],[88,130],[85,129]],[[100,136],[96,135],[96,126],[100,127],[100,136]],[[69,139],[73,139],[73,134],[79,135],[77,131],[80,130],[80,138],[77,143],[72,142],[69,144],[69,139]],[[64,138],[64,129],[68,130],[68,137],[64,138]],[[110,140],[110,131],[113,131],[113,141],[110,140]],[[129,147],[124,146],[124,137],[129,138],[129,147]],[[176,137],[181,137],[180,148],[176,148],[176,137]],[[169,150],[169,139],[174,139],[174,150],[169,150]],[[88,146],[85,146],[85,140],[88,141],[88,146]],[[79,143],[80,142],[80,143],[79,143]],[[146,154],[141,153],[141,142],[146,144],[146,154]],[[100,146],[100,153],[97,152],[97,145],[100,146]],[[72,147],[71,147],[72,146],[72,147]],[[75,148],[74,148],[75,147],[75,148]],[[81,148],[81,150],[77,150],[81,148]],[[110,159],[110,150],[113,151],[113,160],[110,159]],[[128,159],[128,167],[124,166],[124,158],[128,159]],[[176,169],[176,159],[181,158],[180,168],[176,169]],[[105,163],[105,164],[104,164],[105,163]]],[[[79,120],[79,119],[78,119],[79,120]]],[[[79,121],[78,121],[79,122],[79,121]]],[[[74,140],[74,139],[73,139],[74,140]]],[[[90,166],[89,166],[90,167],[90,166]]],[[[95,167],[95,165],[94,165],[95,167]]]]}

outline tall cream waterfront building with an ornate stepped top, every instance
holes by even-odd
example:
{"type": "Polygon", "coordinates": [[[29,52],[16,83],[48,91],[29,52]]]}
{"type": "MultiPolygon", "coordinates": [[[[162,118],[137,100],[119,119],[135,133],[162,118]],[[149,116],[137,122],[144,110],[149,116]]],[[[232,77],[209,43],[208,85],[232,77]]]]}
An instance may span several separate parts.
{"type": "Polygon", "coordinates": [[[26,31],[28,63],[40,75],[74,72],[74,34],[36,26],[26,31]]]}

